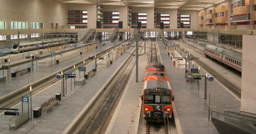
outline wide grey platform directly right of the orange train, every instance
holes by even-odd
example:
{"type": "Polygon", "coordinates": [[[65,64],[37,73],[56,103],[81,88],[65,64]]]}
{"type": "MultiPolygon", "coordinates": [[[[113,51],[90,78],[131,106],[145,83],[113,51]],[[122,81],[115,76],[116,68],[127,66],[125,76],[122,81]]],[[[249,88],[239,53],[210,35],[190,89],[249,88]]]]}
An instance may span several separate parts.
{"type": "MultiPolygon", "coordinates": [[[[196,82],[192,82],[192,84],[187,82],[185,66],[176,67],[173,65],[173,61],[170,60],[162,42],[158,42],[158,48],[173,91],[174,102],[183,133],[218,134],[213,123],[208,121],[209,105],[208,100],[204,99],[204,78],[200,80],[199,89],[196,82]]],[[[196,63],[194,68],[198,68],[196,63]]],[[[206,72],[201,68],[200,75],[205,74],[206,72]]],[[[208,75],[210,74],[208,73],[208,75]]],[[[207,82],[207,91],[210,92],[210,111],[240,111],[240,99],[223,87],[217,80],[207,82]]]]}

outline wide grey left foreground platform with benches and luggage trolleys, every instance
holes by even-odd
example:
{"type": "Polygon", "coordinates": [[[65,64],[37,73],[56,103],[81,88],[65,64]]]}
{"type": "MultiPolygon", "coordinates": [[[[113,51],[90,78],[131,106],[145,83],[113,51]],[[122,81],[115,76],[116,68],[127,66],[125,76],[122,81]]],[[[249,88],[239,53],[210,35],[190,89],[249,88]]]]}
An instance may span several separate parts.
{"type": "MultiPolygon", "coordinates": [[[[111,46],[111,45],[108,45],[111,46]]],[[[113,47],[113,46],[111,46],[113,47]]],[[[106,49],[104,47],[91,51],[91,54],[95,54],[95,52],[100,51],[101,49],[106,49]]],[[[33,121],[29,121],[25,123],[17,130],[9,130],[9,119],[11,116],[4,116],[3,113],[0,114],[0,133],[2,134],[61,134],[66,132],[66,128],[69,127],[70,124],[76,121],[77,115],[80,114],[81,110],[87,108],[88,103],[94,99],[98,93],[100,93],[103,89],[103,86],[106,82],[108,82],[109,78],[115,74],[115,71],[118,70],[120,65],[125,61],[126,58],[130,55],[135,48],[130,48],[127,53],[122,54],[117,58],[117,60],[113,60],[113,64],[106,68],[106,61],[98,61],[98,67],[96,75],[87,79],[86,84],[83,86],[76,85],[76,88],[70,87],[70,80],[67,80],[67,95],[61,99],[59,104],[57,104],[52,110],[46,113],[42,113],[42,116],[39,118],[34,118],[33,121]]],[[[89,55],[89,52],[88,52],[89,55]]],[[[88,56],[86,55],[86,56],[88,56]]],[[[85,58],[85,55],[82,56],[85,58]]],[[[115,58],[115,56],[114,56],[115,58]]],[[[77,59],[78,60],[78,59],[77,59]]],[[[69,60],[75,61],[74,59],[69,60]]],[[[67,64],[67,63],[66,63],[67,64]]],[[[63,67],[64,65],[62,65],[63,67]]],[[[95,67],[95,62],[90,63],[86,66],[87,70],[91,70],[95,67]]],[[[53,71],[53,69],[52,69],[53,71]]],[[[76,76],[79,76],[79,72],[76,71],[76,76]]],[[[77,77],[78,78],[78,77],[77,77]]],[[[72,80],[73,81],[73,80],[72,80]]],[[[72,82],[72,86],[74,83],[72,82]]],[[[33,100],[33,108],[43,104],[46,100],[55,96],[56,93],[61,93],[61,81],[58,81],[51,86],[48,86],[45,90],[40,91],[39,93],[32,96],[33,100]]],[[[27,104],[26,104],[27,105],[27,104]]],[[[24,105],[24,109],[27,109],[26,105],[24,105]]],[[[13,108],[19,108],[21,110],[21,103],[13,106],[13,108]]]]}

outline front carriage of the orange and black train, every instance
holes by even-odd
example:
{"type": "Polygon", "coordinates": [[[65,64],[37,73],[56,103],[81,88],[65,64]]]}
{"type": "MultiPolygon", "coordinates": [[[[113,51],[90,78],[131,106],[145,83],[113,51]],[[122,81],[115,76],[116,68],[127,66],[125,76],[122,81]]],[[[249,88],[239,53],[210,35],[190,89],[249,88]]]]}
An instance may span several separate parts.
{"type": "Polygon", "coordinates": [[[143,95],[143,118],[148,122],[164,122],[172,115],[172,96],[169,81],[145,81],[143,95]]]}

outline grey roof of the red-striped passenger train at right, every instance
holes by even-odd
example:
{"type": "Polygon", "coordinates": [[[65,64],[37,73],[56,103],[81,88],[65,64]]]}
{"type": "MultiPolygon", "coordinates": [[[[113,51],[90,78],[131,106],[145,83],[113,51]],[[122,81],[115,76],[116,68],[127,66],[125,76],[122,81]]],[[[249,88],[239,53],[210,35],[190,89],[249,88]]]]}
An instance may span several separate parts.
{"type": "Polygon", "coordinates": [[[222,54],[224,54],[226,56],[229,56],[231,58],[242,61],[242,54],[240,52],[236,52],[234,50],[229,50],[229,49],[226,49],[226,48],[221,48],[221,47],[216,46],[216,45],[206,45],[205,47],[210,49],[210,50],[222,53],[222,54]]]}

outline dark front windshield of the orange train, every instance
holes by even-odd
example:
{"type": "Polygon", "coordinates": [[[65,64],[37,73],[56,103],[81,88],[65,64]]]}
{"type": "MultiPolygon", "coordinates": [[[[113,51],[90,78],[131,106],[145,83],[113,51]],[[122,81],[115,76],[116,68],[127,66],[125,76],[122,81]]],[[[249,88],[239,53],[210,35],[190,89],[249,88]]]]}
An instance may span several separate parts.
{"type": "Polygon", "coordinates": [[[145,104],[171,104],[171,95],[145,95],[145,104]]]}

